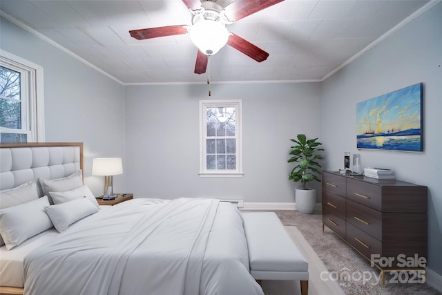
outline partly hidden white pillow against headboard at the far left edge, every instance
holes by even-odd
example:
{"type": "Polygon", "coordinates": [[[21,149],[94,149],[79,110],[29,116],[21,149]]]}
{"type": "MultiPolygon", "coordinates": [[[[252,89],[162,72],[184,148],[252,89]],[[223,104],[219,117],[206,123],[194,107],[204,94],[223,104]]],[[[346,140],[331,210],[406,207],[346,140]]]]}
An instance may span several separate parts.
{"type": "MultiPolygon", "coordinates": [[[[13,189],[5,189],[0,191],[0,209],[37,200],[38,198],[39,193],[37,191],[37,182],[35,182],[35,180],[31,180],[13,189]]],[[[5,242],[0,236],[0,246],[4,244],[5,242]]]]}

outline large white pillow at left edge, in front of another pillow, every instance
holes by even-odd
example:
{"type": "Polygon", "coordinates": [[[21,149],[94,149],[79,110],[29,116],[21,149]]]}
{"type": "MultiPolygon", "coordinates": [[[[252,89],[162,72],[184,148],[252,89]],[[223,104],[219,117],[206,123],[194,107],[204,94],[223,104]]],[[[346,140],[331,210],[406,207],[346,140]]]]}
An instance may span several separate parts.
{"type": "Polygon", "coordinates": [[[44,196],[0,210],[0,234],[5,240],[6,249],[10,250],[52,227],[44,210],[48,205],[48,197],[44,196]]]}

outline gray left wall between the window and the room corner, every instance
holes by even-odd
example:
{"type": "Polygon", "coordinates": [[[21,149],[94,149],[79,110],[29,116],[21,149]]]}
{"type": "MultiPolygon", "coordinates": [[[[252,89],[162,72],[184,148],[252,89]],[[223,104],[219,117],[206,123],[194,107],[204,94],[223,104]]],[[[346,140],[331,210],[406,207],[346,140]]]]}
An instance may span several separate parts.
{"type": "MultiPolygon", "coordinates": [[[[95,196],[103,178],[90,176],[97,157],[124,157],[124,86],[30,32],[0,18],[0,48],[44,67],[46,142],[84,143],[84,180],[95,196]]],[[[124,176],[114,177],[115,191],[124,176]]]]}

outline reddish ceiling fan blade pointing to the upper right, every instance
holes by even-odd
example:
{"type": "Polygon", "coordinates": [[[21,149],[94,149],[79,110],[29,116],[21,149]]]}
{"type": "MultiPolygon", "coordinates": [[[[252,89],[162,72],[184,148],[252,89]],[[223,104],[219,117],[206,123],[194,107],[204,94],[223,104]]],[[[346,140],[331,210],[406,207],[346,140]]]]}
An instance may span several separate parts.
{"type": "Polygon", "coordinates": [[[224,8],[224,15],[229,21],[238,21],[282,1],[284,0],[236,0],[224,8]]]}

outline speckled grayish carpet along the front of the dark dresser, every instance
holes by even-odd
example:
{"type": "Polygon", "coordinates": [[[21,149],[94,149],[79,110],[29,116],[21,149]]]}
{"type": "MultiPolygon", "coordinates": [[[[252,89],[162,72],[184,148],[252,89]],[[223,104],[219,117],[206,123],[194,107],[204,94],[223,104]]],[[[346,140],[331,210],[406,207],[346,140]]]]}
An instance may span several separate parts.
{"type": "Polygon", "coordinates": [[[401,275],[401,278],[386,274],[385,285],[382,285],[379,282],[381,272],[376,267],[371,267],[367,259],[327,227],[323,232],[320,214],[302,214],[291,210],[275,212],[283,225],[298,228],[329,270],[329,274],[324,274],[323,278],[338,280],[345,294],[442,294],[426,284],[394,283],[395,280],[405,280],[405,276],[409,276],[406,273],[401,275]]]}

